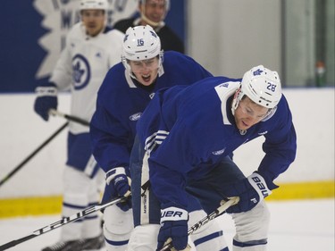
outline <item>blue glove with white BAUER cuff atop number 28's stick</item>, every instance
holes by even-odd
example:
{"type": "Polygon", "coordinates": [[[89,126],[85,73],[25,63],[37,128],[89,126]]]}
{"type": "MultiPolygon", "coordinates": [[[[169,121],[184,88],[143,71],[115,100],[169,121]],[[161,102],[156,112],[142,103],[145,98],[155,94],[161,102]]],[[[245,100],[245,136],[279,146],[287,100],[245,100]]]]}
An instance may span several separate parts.
{"type": "Polygon", "coordinates": [[[272,189],[278,188],[272,181],[266,182],[258,172],[252,173],[223,189],[225,197],[239,197],[239,203],[227,209],[227,213],[247,212],[260,203],[264,197],[272,194],[272,189]]]}

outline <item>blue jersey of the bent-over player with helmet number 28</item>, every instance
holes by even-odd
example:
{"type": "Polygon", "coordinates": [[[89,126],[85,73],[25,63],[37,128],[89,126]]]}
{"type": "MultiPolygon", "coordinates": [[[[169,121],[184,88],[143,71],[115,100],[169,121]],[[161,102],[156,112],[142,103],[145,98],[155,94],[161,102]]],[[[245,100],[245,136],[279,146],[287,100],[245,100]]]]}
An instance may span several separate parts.
{"type": "Polygon", "coordinates": [[[236,127],[231,101],[240,80],[213,77],[192,86],[158,91],[138,121],[138,138],[149,157],[150,183],[162,204],[186,206],[188,178],[198,179],[248,141],[264,136],[258,171],[274,180],[296,155],[296,132],[285,96],[271,117],[245,134],[236,127]]]}

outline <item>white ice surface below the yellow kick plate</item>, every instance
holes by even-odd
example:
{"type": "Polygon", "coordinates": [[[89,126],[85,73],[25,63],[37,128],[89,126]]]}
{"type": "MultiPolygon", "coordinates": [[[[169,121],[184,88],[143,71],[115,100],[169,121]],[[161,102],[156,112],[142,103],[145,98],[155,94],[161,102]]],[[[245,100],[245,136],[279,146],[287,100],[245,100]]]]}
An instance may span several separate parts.
{"type": "MultiPolygon", "coordinates": [[[[268,202],[272,213],[268,251],[334,251],[334,199],[268,202]]],[[[0,221],[0,245],[29,235],[35,230],[60,220],[59,215],[12,218],[0,221]]],[[[220,216],[229,243],[234,225],[228,214],[220,216]]],[[[39,251],[54,244],[59,229],[29,239],[10,251],[39,251]]],[[[104,249],[102,249],[104,250],[104,249]]],[[[194,249],[192,249],[193,251],[194,249]]],[[[210,251],[210,250],[208,250],[210,251]]]]}

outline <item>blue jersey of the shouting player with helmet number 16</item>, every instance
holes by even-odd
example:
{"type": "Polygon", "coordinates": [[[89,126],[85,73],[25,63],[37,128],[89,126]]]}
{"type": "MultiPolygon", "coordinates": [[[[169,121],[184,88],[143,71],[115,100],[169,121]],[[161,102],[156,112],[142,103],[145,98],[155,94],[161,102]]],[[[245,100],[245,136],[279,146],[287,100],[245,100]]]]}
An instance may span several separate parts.
{"type": "Polygon", "coordinates": [[[90,124],[93,155],[105,172],[114,167],[129,167],[136,123],[155,91],[178,84],[189,85],[213,76],[192,58],[172,51],[163,54],[160,72],[155,88],[150,90],[139,88],[122,63],[106,74],[90,124]]]}

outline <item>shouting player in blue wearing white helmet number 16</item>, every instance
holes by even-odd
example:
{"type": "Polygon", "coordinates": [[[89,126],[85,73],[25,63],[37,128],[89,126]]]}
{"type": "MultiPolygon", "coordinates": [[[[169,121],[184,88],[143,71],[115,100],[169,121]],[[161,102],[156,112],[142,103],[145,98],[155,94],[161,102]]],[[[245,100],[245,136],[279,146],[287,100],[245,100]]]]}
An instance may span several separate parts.
{"type": "MultiPolygon", "coordinates": [[[[163,53],[160,38],[150,26],[127,29],[121,63],[113,66],[105,76],[90,125],[93,155],[104,169],[108,184],[103,202],[119,195],[130,195],[130,151],[136,123],[155,91],[179,83],[188,85],[206,77],[212,77],[212,74],[192,58],[172,51],[163,53]]],[[[188,201],[190,219],[198,221],[203,218],[205,211],[197,200],[188,196],[188,201]]],[[[125,250],[133,229],[130,205],[107,207],[104,219],[107,250],[125,250]]],[[[135,225],[147,221],[142,217],[135,225]]],[[[140,240],[143,243],[148,241],[147,238],[150,242],[155,238],[150,232],[145,232],[145,235],[140,240]]],[[[227,247],[217,222],[192,239],[203,244],[197,250],[208,251],[210,247],[226,250],[227,247]]]]}

